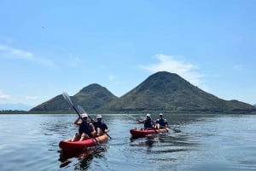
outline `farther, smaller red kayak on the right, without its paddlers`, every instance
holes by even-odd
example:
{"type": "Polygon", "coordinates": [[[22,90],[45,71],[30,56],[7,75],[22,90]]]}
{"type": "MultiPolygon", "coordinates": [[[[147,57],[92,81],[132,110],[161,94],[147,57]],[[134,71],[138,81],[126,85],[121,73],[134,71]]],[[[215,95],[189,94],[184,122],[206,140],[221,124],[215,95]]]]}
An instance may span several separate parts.
{"type": "Polygon", "coordinates": [[[130,133],[131,136],[133,138],[141,138],[141,137],[145,137],[148,134],[159,134],[159,133],[167,133],[168,132],[168,128],[160,128],[160,129],[131,129],[130,133]]]}

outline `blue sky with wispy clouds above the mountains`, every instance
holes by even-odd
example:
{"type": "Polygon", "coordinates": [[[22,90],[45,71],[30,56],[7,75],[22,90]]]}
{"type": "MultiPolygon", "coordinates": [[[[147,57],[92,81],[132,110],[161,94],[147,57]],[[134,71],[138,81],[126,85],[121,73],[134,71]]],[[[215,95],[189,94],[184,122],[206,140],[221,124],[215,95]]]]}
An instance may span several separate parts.
{"type": "Polygon", "coordinates": [[[0,104],[99,83],[124,95],[157,71],[256,104],[256,1],[0,3],[0,104]]]}

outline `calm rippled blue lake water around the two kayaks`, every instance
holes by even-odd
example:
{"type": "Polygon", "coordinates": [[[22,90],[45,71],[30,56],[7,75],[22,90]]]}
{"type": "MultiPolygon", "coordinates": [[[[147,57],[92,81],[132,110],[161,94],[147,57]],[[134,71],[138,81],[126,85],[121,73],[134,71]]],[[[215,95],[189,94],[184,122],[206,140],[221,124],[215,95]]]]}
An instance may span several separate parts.
{"type": "Polygon", "coordinates": [[[102,116],[112,140],[73,157],[58,144],[77,131],[76,114],[0,115],[0,170],[256,170],[255,115],[165,114],[181,132],[137,140],[132,117],[144,114],[102,116]]]}

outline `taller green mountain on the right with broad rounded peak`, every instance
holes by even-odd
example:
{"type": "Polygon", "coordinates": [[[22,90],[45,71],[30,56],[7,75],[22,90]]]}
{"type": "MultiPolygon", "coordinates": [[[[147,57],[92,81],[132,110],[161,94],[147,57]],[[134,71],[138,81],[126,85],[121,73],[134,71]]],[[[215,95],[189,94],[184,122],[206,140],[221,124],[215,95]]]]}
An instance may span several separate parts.
{"type": "Polygon", "coordinates": [[[221,100],[166,71],[148,77],[129,93],[102,108],[125,112],[251,112],[256,109],[237,100],[221,100]]]}

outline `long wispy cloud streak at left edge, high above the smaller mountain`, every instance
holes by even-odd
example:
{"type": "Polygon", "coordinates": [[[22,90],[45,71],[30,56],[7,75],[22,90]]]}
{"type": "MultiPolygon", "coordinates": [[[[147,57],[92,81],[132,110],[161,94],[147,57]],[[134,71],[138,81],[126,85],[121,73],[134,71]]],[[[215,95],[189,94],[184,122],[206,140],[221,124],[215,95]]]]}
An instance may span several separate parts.
{"type": "Polygon", "coordinates": [[[8,56],[9,58],[29,60],[44,66],[55,66],[52,60],[38,58],[32,52],[27,52],[25,50],[20,50],[3,44],[0,44],[0,53],[5,54],[5,56],[8,56]]]}

